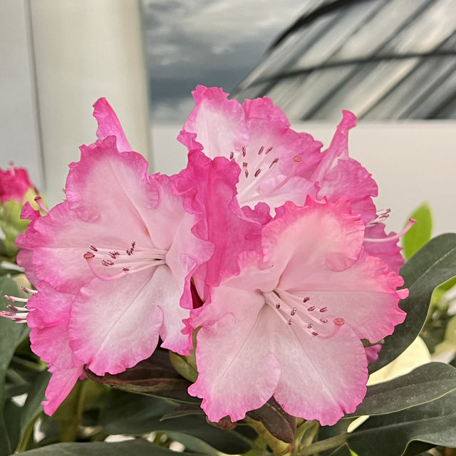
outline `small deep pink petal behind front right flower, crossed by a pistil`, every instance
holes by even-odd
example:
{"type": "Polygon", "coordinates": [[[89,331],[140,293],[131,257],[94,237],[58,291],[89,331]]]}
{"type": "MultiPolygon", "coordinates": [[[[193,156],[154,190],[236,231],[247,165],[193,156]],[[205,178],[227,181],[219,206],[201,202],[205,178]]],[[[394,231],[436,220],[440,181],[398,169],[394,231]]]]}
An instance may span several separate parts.
{"type": "MultiPolygon", "coordinates": [[[[369,239],[384,239],[385,237],[393,237],[395,232],[385,233],[385,225],[376,223],[366,227],[366,237],[369,239]]],[[[404,264],[404,258],[400,254],[398,239],[391,242],[365,242],[364,249],[366,253],[373,257],[378,257],[391,269],[391,271],[399,272],[400,267],[404,264]]]]}

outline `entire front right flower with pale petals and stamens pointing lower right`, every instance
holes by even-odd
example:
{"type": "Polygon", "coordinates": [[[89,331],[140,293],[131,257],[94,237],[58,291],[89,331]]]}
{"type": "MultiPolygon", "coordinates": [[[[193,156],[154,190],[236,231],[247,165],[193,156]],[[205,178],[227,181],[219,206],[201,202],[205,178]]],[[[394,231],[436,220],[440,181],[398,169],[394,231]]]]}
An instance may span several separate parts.
{"type": "Polygon", "coordinates": [[[346,198],[286,202],[262,234],[264,256],[192,311],[197,381],[209,420],[244,418],[271,396],[284,410],[332,425],[366,393],[362,338],[393,333],[403,280],[363,249],[365,224],[346,198]]]}

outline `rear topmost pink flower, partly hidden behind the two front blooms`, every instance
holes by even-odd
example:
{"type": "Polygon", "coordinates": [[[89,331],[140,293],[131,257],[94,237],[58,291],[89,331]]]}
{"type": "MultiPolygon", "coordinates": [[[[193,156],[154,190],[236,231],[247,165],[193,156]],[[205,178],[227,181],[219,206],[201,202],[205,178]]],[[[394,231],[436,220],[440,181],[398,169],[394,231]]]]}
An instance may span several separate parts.
{"type": "Polygon", "coordinates": [[[403,258],[398,237],[393,232],[387,235],[380,228],[383,224],[375,227],[382,219],[373,202],[377,184],[348,154],[348,133],[356,126],[356,115],[343,111],[331,144],[321,152],[321,142],[291,130],[284,113],[267,97],[241,105],[221,88],[197,86],[192,93],[196,106],[177,139],[189,150],[227,157],[239,165],[237,199],[247,217],[266,224],[269,212],[274,214],[274,208],[286,201],[302,205],[308,196],[331,202],[348,197],[353,211],[368,224],[368,239],[391,238],[366,242],[366,250],[399,270],[403,258]]]}

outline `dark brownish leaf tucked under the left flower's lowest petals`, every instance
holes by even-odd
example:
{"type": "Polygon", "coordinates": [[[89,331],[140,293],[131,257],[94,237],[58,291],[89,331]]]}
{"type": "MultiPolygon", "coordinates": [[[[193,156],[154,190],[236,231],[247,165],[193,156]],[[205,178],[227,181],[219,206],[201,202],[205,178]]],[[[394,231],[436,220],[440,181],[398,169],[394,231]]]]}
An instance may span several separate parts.
{"type": "Polygon", "coordinates": [[[86,371],[88,378],[98,383],[105,383],[130,393],[142,393],[171,398],[189,403],[201,403],[187,393],[191,385],[172,367],[168,351],[155,350],[150,358],[141,361],[133,368],[117,375],[106,374],[103,377],[86,371]]]}

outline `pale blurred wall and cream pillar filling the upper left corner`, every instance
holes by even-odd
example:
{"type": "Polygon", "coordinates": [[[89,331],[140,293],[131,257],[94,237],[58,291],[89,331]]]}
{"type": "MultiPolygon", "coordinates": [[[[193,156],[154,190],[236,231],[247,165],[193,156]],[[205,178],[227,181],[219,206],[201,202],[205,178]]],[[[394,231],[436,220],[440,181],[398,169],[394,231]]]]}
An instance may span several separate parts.
{"type": "Polygon", "coordinates": [[[0,4],[0,165],[29,167],[51,203],[63,197],[78,146],[96,139],[92,105],[100,97],[132,147],[150,158],[141,20],[139,0],[0,4]]]}

